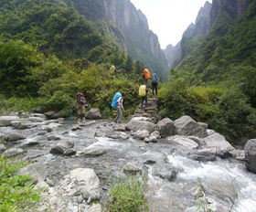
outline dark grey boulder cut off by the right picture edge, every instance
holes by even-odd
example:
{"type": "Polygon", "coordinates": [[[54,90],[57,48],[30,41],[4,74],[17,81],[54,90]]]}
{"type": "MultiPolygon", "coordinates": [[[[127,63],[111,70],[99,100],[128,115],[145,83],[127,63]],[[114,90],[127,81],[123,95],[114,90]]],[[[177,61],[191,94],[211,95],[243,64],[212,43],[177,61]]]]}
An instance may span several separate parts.
{"type": "Polygon", "coordinates": [[[244,151],[246,168],[256,173],[256,139],[249,140],[244,146],[244,151]]]}

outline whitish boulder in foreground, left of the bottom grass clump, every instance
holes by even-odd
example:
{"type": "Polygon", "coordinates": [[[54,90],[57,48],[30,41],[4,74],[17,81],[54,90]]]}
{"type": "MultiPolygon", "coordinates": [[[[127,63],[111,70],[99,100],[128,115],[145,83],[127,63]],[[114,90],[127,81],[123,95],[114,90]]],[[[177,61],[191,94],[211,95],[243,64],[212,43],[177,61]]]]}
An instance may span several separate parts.
{"type": "Polygon", "coordinates": [[[100,199],[100,180],[93,169],[77,168],[70,172],[69,177],[76,182],[80,195],[91,200],[100,199]]]}

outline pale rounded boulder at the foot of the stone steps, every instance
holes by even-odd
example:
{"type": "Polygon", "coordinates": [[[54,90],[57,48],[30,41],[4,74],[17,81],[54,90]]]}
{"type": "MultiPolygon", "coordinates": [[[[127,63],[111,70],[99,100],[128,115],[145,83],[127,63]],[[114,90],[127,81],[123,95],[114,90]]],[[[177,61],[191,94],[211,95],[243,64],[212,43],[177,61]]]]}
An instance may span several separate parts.
{"type": "MultiPolygon", "coordinates": [[[[144,118],[144,117],[143,117],[144,118]]],[[[134,117],[130,122],[126,124],[126,129],[128,131],[147,131],[149,133],[155,131],[155,123],[144,121],[146,119],[142,119],[142,117],[134,117]]]]}

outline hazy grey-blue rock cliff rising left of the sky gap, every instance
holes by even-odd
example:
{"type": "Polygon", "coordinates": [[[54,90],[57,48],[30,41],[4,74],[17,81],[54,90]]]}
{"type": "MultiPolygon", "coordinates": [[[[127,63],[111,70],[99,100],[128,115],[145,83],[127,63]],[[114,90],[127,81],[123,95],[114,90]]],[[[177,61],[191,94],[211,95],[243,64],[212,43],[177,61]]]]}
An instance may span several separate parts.
{"type": "Polygon", "coordinates": [[[167,77],[167,62],[158,38],[149,30],[147,19],[130,0],[67,0],[91,21],[104,21],[117,26],[123,34],[123,45],[144,66],[167,77]]]}

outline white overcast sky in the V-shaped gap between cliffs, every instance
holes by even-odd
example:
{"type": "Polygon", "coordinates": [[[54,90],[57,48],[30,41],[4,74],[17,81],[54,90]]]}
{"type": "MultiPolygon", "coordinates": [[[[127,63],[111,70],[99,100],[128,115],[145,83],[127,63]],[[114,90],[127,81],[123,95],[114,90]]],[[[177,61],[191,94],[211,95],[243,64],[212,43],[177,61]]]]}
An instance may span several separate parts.
{"type": "MultiPolygon", "coordinates": [[[[149,27],[157,35],[161,48],[176,43],[199,9],[207,0],[131,0],[147,17],[149,27]]],[[[211,2],[211,0],[209,1],[211,2]]]]}

